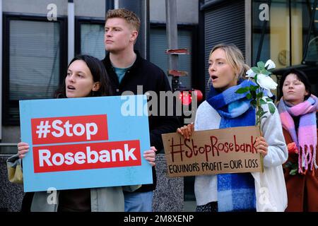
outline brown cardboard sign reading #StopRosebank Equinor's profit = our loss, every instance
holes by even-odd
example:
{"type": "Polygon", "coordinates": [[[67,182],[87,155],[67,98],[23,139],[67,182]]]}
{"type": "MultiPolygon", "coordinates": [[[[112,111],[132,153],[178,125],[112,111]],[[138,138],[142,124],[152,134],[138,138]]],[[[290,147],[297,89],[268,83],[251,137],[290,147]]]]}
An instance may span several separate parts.
{"type": "Polygon", "coordinates": [[[261,155],[254,147],[258,136],[257,126],[194,131],[189,140],[165,133],[168,176],[262,172],[261,155]]]}

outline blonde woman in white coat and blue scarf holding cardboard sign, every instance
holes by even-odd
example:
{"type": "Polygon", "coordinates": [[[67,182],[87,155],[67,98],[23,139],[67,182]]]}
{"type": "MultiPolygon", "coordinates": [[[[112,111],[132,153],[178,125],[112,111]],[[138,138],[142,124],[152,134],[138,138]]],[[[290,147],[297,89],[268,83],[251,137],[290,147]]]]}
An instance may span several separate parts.
{"type": "MultiPolygon", "coordinates": [[[[234,44],[218,44],[208,59],[208,73],[212,83],[210,93],[196,112],[194,124],[177,129],[185,138],[192,131],[224,129],[237,126],[254,126],[256,111],[245,95],[235,91],[252,84],[245,80],[249,67],[240,49],[234,44]]],[[[233,173],[196,176],[194,192],[196,211],[283,211],[287,194],[282,164],[288,151],[276,110],[261,120],[263,136],[257,138],[255,147],[264,157],[264,172],[233,173]]]]}

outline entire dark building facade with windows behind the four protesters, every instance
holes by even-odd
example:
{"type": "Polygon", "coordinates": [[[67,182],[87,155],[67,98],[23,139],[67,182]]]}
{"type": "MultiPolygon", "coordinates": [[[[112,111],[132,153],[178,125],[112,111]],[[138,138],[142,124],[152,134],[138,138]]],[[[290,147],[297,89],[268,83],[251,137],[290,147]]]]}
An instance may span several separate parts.
{"type": "MultiPolygon", "coordinates": [[[[165,0],[145,1],[150,16],[147,58],[167,71],[165,0]]],[[[6,157],[16,153],[20,141],[18,100],[52,97],[76,54],[105,57],[105,12],[120,4],[121,0],[0,0],[0,181],[7,177],[6,157]]],[[[205,95],[210,50],[225,42],[236,44],[249,66],[272,59],[278,83],[288,69],[305,71],[317,95],[316,0],[177,0],[177,23],[178,45],[190,52],[179,57],[179,70],[189,72],[180,85],[205,95]]],[[[279,90],[274,93],[281,95],[279,90]]],[[[194,177],[180,183],[182,202],[194,202],[194,177]]],[[[0,208],[18,210],[6,204],[12,198],[9,186],[0,186],[0,208]]]]}

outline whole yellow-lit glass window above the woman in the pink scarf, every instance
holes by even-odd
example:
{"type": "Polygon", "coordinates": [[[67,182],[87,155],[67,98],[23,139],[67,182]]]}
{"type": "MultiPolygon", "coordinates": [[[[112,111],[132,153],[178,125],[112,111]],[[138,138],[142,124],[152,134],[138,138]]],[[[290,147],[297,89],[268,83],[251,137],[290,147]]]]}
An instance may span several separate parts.
{"type": "Polygon", "coordinates": [[[314,11],[314,25],[310,19],[314,0],[276,0],[271,4],[252,1],[252,64],[272,59],[276,69],[302,64],[304,50],[308,61],[318,59],[318,15],[314,11]],[[268,6],[268,10],[264,8],[268,6]],[[264,19],[268,14],[268,20],[264,19]],[[262,19],[263,18],[263,19],[262,19]],[[310,34],[307,47],[306,40],[310,34]]]}

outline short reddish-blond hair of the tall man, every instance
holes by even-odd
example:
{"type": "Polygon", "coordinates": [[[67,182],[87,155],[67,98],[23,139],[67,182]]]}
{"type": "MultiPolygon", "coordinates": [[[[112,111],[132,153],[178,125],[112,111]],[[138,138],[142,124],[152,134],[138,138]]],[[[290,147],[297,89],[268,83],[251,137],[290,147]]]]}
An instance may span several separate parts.
{"type": "Polygon", "coordinates": [[[110,18],[122,18],[139,32],[140,19],[133,11],[126,10],[125,8],[110,9],[107,11],[106,20],[110,18]]]}

